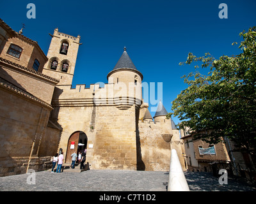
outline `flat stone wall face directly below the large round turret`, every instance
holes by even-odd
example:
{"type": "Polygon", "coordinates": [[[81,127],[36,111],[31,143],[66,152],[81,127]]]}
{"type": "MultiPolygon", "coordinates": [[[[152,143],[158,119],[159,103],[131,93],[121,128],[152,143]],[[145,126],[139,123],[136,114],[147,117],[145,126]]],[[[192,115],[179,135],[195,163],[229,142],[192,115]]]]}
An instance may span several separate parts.
{"type": "Polygon", "coordinates": [[[135,106],[97,107],[93,166],[97,169],[136,170],[135,106]]]}

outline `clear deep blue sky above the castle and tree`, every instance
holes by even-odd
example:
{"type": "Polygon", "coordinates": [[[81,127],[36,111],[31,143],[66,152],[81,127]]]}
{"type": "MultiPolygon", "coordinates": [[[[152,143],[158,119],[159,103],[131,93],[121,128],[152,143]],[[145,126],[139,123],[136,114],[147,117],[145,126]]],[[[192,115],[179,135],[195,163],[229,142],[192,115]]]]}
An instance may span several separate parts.
{"type": "Polygon", "coordinates": [[[256,25],[255,0],[29,0],[1,1],[0,8],[0,18],[15,31],[26,25],[24,36],[38,41],[45,55],[51,43],[48,33],[56,27],[81,36],[73,85],[108,83],[125,46],[143,82],[163,82],[161,101],[168,112],[186,89],[180,77],[194,71],[193,65],[179,66],[188,52],[209,52],[216,58],[239,54],[238,45],[231,44],[256,25]],[[26,17],[28,3],[36,6],[35,19],[26,17]],[[221,3],[228,6],[227,19],[218,17],[221,3]]]}

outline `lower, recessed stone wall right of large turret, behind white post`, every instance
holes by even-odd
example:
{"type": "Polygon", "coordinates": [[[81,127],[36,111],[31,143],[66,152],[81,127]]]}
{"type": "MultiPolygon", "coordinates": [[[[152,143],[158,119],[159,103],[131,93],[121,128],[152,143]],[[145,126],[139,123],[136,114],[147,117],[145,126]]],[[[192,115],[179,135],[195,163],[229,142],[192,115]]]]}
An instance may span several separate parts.
{"type": "Polygon", "coordinates": [[[142,161],[140,170],[169,171],[171,149],[177,151],[182,169],[185,170],[183,143],[179,138],[179,131],[171,128],[170,120],[156,123],[139,120],[138,127],[142,161]]]}

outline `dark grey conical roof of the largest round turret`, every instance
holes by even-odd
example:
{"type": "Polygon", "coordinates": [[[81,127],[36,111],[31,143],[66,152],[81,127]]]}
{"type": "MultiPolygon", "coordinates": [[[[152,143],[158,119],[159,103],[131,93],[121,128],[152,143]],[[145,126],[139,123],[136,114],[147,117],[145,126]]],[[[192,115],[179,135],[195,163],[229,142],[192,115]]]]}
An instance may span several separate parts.
{"type": "Polygon", "coordinates": [[[118,62],[116,63],[115,67],[113,68],[112,71],[110,71],[108,73],[108,77],[115,73],[116,71],[124,71],[124,70],[128,70],[128,71],[134,71],[136,73],[138,73],[141,77],[141,80],[143,80],[143,75],[140,73],[140,71],[138,71],[138,69],[136,69],[135,65],[133,64],[131,58],[129,57],[129,55],[126,52],[126,48],[124,47],[124,52],[121,55],[120,59],[118,60],[118,62]]]}

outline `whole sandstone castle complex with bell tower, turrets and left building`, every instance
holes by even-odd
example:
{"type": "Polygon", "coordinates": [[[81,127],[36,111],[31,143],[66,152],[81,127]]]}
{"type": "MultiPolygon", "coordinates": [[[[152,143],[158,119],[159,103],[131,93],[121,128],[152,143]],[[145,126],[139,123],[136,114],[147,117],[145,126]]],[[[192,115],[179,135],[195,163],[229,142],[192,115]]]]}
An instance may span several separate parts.
{"type": "Polygon", "coordinates": [[[185,169],[179,130],[161,101],[153,120],[126,48],[104,87],[72,88],[80,36],[55,29],[46,56],[36,41],[0,25],[1,176],[47,169],[60,150],[69,163],[85,148],[90,169],[168,171],[171,149],[185,169]]]}

